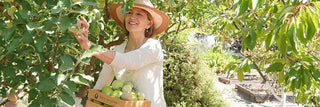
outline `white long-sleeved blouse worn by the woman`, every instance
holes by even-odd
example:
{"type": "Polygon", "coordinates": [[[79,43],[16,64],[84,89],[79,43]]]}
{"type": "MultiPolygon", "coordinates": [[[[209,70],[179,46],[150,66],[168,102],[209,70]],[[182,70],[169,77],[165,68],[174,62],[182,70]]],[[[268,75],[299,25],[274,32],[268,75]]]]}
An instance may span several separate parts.
{"type": "Polygon", "coordinates": [[[110,85],[113,77],[131,81],[152,107],[166,107],[163,93],[163,52],[158,40],[148,39],[140,48],[124,53],[127,42],[115,46],[115,58],[104,64],[94,89],[110,85]]]}

